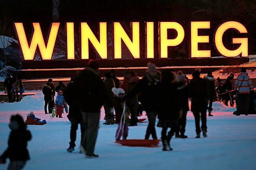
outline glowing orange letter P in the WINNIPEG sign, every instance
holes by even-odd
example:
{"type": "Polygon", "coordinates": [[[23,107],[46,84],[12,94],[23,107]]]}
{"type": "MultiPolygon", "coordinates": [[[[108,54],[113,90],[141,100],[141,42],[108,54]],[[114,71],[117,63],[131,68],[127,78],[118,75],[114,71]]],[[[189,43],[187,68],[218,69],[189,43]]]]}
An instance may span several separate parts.
{"type": "Polygon", "coordinates": [[[167,47],[179,45],[184,39],[184,29],[178,22],[160,22],[161,58],[167,58],[167,47]],[[167,39],[167,29],[175,29],[178,33],[175,39],[167,39]]]}

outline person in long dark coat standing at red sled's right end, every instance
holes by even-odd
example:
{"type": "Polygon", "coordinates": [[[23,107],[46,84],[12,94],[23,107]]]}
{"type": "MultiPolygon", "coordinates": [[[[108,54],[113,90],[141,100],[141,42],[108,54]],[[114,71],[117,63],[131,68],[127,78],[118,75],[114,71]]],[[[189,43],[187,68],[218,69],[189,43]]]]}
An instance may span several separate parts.
{"type": "Polygon", "coordinates": [[[158,127],[162,128],[161,139],[163,151],[172,151],[170,139],[178,128],[179,111],[181,110],[180,102],[177,100],[176,74],[170,70],[162,71],[162,82],[159,88],[159,112],[158,127]],[[167,129],[170,131],[167,133],[167,129]]]}

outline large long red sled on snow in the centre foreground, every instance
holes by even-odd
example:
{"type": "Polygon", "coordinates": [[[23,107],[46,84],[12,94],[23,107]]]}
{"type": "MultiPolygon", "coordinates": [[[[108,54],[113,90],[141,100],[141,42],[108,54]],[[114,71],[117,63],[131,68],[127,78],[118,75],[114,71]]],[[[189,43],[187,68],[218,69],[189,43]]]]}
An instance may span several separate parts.
{"type": "Polygon", "coordinates": [[[126,139],[126,140],[116,140],[115,143],[120,143],[127,147],[157,147],[160,140],[158,139],[126,139]]]}

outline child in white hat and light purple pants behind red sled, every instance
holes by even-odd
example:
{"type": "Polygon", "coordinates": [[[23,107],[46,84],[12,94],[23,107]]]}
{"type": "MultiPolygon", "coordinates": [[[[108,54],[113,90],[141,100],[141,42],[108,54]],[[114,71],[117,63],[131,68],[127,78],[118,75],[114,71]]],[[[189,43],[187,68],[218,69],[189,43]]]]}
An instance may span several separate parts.
{"type": "Polygon", "coordinates": [[[115,94],[115,113],[116,123],[118,128],[116,130],[116,140],[120,140],[121,136],[126,139],[129,131],[129,109],[126,107],[124,95],[125,92],[122,88],[112,88],[115,94]]]}

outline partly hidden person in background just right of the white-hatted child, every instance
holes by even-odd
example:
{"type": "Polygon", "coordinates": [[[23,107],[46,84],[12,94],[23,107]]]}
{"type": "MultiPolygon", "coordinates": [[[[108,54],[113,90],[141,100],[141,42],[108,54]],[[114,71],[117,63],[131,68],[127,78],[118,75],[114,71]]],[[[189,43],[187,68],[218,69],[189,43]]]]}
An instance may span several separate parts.
{"type": "MultiPolygon", "coordinates": [[[[132,71],[131,73],[132,77],[129,80],[129,86],[128,86],[128,92],[133,91],[133,89],[136,87],[136,85],[139,82],[139,78],[137,77],[137,74],[132,71]]],[[[132,99],[126,101],[127,106],[130,109],[131,112],[131,123],[129,126],[137,126],[138,120],[138,95],[135,95],[132,99]]]]}

